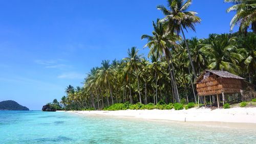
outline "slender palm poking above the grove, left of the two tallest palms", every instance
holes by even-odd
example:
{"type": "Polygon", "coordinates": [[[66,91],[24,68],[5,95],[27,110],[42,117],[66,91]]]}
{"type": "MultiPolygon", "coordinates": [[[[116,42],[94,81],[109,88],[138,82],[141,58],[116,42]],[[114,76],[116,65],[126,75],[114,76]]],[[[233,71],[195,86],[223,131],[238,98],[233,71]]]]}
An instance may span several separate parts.
{"type": "Polygon", "coordinates": [[[137,83],[138,83],[138,92],[139,92],[139,100],[141,101],[141,95],[140,95],[140,80],[139,80],[139,68],[141,63],[142,55],[138,54],[138,51],[135,46],[133,46],[130,49],[128,49],[128,57],[124,58],[123,60],[126,61],[126,71],[128,71],[129,74],[132,73],[133,70],[136,71],[136,77],[137,77],[137,83]]]}

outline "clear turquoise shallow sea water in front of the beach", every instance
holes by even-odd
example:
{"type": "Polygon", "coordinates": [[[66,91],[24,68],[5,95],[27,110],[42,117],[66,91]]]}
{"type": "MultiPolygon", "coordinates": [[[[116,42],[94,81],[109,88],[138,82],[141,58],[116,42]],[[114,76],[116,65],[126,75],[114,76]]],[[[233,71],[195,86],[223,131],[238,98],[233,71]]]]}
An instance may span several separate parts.
{"type": "Polygon", "coordinates": [[[256,130],[67,112],[0,111],[0,143],[255,143],[256,130]]]}

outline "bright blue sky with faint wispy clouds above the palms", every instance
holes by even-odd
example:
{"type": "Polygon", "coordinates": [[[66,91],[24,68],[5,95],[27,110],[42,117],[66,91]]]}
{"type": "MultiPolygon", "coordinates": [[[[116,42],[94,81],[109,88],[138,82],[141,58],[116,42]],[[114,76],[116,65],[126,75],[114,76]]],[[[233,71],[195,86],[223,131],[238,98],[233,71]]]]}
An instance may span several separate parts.
{"type": "MultiPolygon", "coordinates": [[[[152,21],[164,17],[157,5],[166,1],[0,0],[0,101],[40,110],[60,101],[69,84],[82,86],[102,60],[122,59],[132,46],[147,56],[140,37],[151,35],[152,21]]],[[[189,10],[202,21],[186,38],[229,33],[229,6],[194,0],[189,10]]]]}

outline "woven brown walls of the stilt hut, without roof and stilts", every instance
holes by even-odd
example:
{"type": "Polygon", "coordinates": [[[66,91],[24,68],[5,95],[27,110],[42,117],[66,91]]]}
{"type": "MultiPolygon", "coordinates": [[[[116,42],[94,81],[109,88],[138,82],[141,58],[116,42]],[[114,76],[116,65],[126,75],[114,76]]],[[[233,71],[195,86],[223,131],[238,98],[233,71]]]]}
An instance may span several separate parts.
{"type": "Polygon", "coordinates": [[[210,75],[197,84],[197,92],[199,96],[215,95],[224,93],[240,93],[242,83],[239,79],[220,78],[216,75],[210,75]]]}

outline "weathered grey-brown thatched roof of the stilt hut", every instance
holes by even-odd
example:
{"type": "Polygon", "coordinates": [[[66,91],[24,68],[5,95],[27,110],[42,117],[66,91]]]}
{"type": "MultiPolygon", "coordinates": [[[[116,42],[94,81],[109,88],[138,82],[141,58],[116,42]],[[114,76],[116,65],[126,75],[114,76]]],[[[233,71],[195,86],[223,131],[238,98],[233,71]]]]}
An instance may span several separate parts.
{"type": "Polygon", "coordinates": [[[198,82],[201,80],[201,78],[204,76],[204,74],[205,74],[205,73],[208,73],[208,72],[210,72],[210,73],[212,73],[212,74],[215,74],[215,75],[217,75],[217,76],[219,76],[219,77],[222,77],[222,78],[230,78],[230,79],[240,79],[240,80],[244,80],[244,78],[239,77],[239,76],[234,75],[234,74],[231,74],[231,73],[228,73],[227,71],[205,69],[205,72],[204,72],[203,74],[201,74],[201,75],[198,77],[196,83],[198,83],[198,82]]]}

